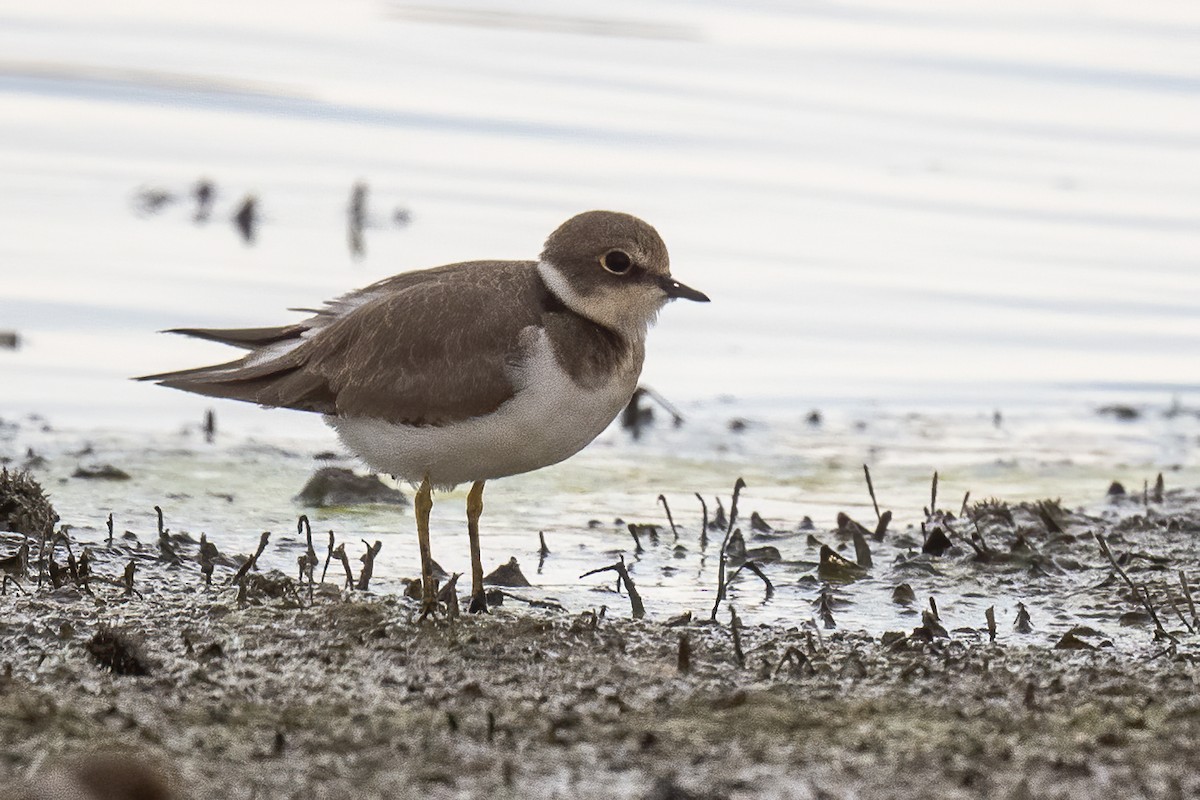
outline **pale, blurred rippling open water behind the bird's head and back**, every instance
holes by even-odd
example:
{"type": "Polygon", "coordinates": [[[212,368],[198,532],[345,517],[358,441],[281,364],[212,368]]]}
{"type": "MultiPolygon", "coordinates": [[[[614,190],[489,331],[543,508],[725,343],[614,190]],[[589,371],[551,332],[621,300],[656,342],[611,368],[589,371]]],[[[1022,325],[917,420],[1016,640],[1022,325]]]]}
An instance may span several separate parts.
{"type": "Polygon", "coordinates": [[[653,333],[679,403],[1188,399],[1198,46],[1188,2],[0,4],[0,414],[194,415],[125,378],[224,351],[154,331],[532,258],[590,207],[714,299],[653,333]]]}

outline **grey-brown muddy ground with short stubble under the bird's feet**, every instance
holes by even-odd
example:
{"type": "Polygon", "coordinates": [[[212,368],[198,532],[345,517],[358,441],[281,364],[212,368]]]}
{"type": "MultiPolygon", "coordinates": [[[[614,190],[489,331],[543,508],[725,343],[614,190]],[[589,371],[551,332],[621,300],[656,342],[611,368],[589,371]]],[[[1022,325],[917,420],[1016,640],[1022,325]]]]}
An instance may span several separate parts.
{"type": "Polygon", "coordinates": [[[920,599],[913,626],[876,637],[836,621],[852,583],[822,591],[811,619],[737,640],[727,603],[719,624],[701,609],[632,620],[616,595],[602,616],[510,599],[421,622],[412,600],[335,585],[336,564],[310,601],[278,573],[240,591],[218,569],[206,587],[186,543],[176,565],[152,545],[92,542],[86,590],[60,576],[0,597],[4,796],[66,796],[80,775],[116,792],[95,776],[131,763],[163,793],[78,796],[1200,794],[1200,636],[1182,583],[1196,582],[1200,495],[1007,511],[971,516],[984,553],[946,516],[962,541],[914,558],[1030,581],[1088,561],[1094,627],[1050,645],[1006,618],[991,640],[984,620],[944,630],[920,599]],[[1118,620],[1128,633],[1106,634],[1118,620]]]}

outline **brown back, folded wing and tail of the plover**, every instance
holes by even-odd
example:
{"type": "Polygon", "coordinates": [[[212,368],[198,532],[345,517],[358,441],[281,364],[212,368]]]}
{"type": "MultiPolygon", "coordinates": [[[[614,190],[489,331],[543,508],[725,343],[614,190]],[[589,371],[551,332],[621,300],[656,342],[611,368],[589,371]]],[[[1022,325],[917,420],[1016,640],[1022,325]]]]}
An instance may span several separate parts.
{"type": "MultiPolygon", "coordinates": [[[[547,296],[533,261],[406,273],[334,301],[300,331],[252,329],[268,343],[244,359],[145,380],[262,405],[443,425],[512,396],[521,331],[541,320],[547,296]]],[[[226,333],[202,336],[246,345],[241,331],[226,333]]]]}

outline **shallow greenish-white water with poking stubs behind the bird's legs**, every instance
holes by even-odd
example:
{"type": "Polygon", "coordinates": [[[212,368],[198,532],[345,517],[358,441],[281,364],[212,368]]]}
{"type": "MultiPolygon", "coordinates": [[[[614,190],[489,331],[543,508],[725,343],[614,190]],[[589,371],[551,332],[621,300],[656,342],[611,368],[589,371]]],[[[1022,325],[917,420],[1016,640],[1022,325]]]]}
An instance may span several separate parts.
{"type": "MultiPolygon", "coordinates": [[[[820,547],[809,536],[854,558],[848,539],[836,531],[836,517],[844,511],[868,528],[875,527],[862,469],[866,463],[880,507],[893,511],[895,521],[882,543],[871,542],[875,566],[866,578],[848,585],[830,584],[840,630],[878,634],[911,628],[919,624],[919,612],[932,596],[947,628],[980,628],[984,610],[995,606],[1007,640],[1049,645],[1072,627],[1086,624],[1122,646],[1144,648],[1152,631],[1118,625],[1121,613],[1136,609],[1115,600],[1112,590],[1098,588],[1109,570],[1091,534],[1110,530],[1126,517],[1153,517],[1170,513],[1171,507],[1187,507],[1176,501],[1176,506],[1168,503],[1153,504],[1152,511],[1142,509],[1142,487],[1152,487],[1159,471],[1169,491],[1200,483],[1195,465],[1200,414],[1194,409],[1146,408],[1134,421],[1099,416],[1091,409],[1057,416],[1040,409],[1002,416],[998,425],[990,414],[856,416],[835,411],[818,426],[798,415],[788,419],[762,409],[745,420],[742,432],[728,428],[725,405],[698,404],[688,414],[682,428],[660,425],[638,441],[612,429],[564,464],[490,483],[482,519],[485,570],[516,558],[533,583],[530,589],[514,590],[517,595],[552,600],[570,612],[607,606],[610,613],[624,616],[630,613],[629,601],[613,591],[612,573],[580,577],[623,558],[652,619],[662,621],[689,610],[707,619],[715,600],[724,531],[709,530],[707,547],[702,546],[701,505],[695,493],[704,498],[712,519],[718,504],[730,509],[732,483],[740,476],[748,488],[742,493],[737,527],[749,547],[775,547],[782,560],[763,564],[774,596],[764,599],[758,579],[744,573],[730,601],[750,624],[818,625],[816,601],[824,582],[817,573],[820,547]],[[1084,507],[1093,517],[1067,525],[1078,541],[1055,545],[1055,537],[1036,517],[1018,515],[1019,528],[1028,529],[1030,542],[1046,557],[1037,563],[980,566],[961,539],[956,540],[960,549],[941,559],[920,557],[922,509],[930,506],[935,470],[937,507],[955,515],[970,492],[972,501],[1061,498],[1063,509],[1084,507]],[[1128,487],[1129,501],[1114,505],[1105,499],[1112,480],[1128,487]],[[671,506],[678,540],[656,501],[659,494],[671,506]],[[752,531],[751,512],[774,530],[752,531]],[[1102,519],[1105,513],[1115,516],[1102,519]],[[805,517],[811,519],[811,529],[802,529],[805,517]],[[660,528],[656,536],[641,534],[643,549],[638,552],[628,523],[660,528]],[[551,551],[545,559],[539,558],[539,533],[551,551]],[[892,601],[900,583],[912,587],[916,606],[892,601]],[[1013,633],[1019,602],[1033,615],[1034,633],[1013,633]]],[[[347,543],[355,575],[364,541],[383,542],[373,590],[401,591],[402,579],[419,572],[410,509],[314,510],[294,499],[311,473],[330,463],[314,459],[330,447],[337,450],[330,433],[307,440],[222,434],[216,443],[205,444],[196,429],[149,437],[42,429],[40,423],[24,422],[4,434],[0,456],[12,464],[20,464],[30,451],[46,459],[35,474],[50,492],[64,522],[84,541],[103,539],[104,519],[112,512],[118,536],[132,531],[145,554],[157,558],[154,506],[158,505],[170,530],[187,531],[193,539],[203,531],[226,554],[246,554],[260,531],[272,531],[262,564],[294,575],[296,557],[304,552],[296,518],[307,513],[322,560],[326,531],[332,530],[338,542],[347,543]],[[108,463],[128,471],[131,480],[72,477],[79,465],[108,463]]],[[[344,457],[331,463],[353,465],[344,457]]],[[[1194,505],[1194,499],[1190,503],[1194,505]]],[[[464,572],[469,581],[464,505],[462,489],[436,495],[433,554],[446,570],[464,572]]],[[[970,530],[964,524],[959,533],[965,536],[970,530]]],[[[1127,533],[1128,539],[1114,540],[1114,548],[1172,558],[1166,571],[1151,565],[1150,572],[1135,579],[1151,582],[1159,593],[1171,587],[1177,594],[1174,575],[1194,563],[1195,533],[1162,533],[1147,525],[1127,533]]],[[[995,531],[988,536],[994,548],[1008,552],[1012,536],[995,531]]],[[[181,552],[191,551],[184,547],[181,552]]],[[[184,571],[180,579],[199,583],[194,564],[188,561],[184,571]]],[[[218,579],[230,575],[232,570],[217,570],[218,579]]],[[[329,575],[331,582],[341,582],[337,563],[329,575]]],[[[1200,577],[1193,576],[1193,583],[1200,583],[1200,577]]],[[[460,583],[460,588],[466,587],[460,583]]],[[[726,620],[727,606],[720,614],[726,620]]]]}

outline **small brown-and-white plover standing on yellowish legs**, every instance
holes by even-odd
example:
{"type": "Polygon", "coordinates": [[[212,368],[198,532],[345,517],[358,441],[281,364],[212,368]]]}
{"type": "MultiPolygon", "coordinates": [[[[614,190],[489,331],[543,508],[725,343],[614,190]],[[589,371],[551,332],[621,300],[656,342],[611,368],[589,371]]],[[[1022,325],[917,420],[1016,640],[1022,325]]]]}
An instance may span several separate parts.
{"type": "Polygon", "coordinates": [[[535,261],[403,272],[277,327],[174,329],[250,350],[228,363],[146,375],[164,386],[316,411],[372,469],[419,485],[422,615],[434,609],[431,489],[470,482],[470,610],[486,610],[484,483],[575,455],[637,389],[646,335],[673,299],[658,231],[587,211],[535,261]]]}

